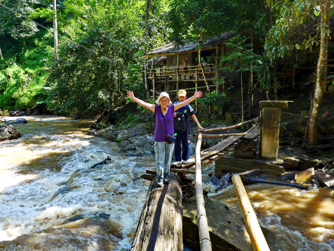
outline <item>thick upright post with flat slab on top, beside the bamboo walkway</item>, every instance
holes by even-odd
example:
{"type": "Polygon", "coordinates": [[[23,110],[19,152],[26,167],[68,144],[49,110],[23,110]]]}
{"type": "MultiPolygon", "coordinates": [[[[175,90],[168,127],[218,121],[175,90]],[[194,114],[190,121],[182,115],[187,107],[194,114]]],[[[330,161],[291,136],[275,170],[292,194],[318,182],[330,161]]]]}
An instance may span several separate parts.
{"type": "Polygon", "coordinates": [[[287,101],[260,101],[261,153],[264,160],[276,160],[278,156],[281,108],[288,107],[287,101]]]}

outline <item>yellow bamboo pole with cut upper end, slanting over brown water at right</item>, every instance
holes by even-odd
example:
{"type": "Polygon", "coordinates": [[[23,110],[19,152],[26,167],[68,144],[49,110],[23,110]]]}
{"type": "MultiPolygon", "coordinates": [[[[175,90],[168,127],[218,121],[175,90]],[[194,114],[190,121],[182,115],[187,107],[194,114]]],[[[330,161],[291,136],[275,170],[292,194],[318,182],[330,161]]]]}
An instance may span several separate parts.
{"type": "Polygon", "coordinates": [[[254,251],[270,251],[240,176],[233,175],[232,181],[254,251]]]}

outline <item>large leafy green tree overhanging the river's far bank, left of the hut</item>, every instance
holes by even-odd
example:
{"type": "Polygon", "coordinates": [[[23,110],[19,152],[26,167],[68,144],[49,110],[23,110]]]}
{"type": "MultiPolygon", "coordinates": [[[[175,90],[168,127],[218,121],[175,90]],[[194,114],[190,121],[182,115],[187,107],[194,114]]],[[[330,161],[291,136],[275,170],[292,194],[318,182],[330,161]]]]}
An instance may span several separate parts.
{"type": "Polygon", "coordinates": [[[123,100],[122,76],[133,76],[128,66],[140,41],[136,38],[137,16],[130,6],[121,0],[93,2],[82,11],[83,18],[66,28],[75,42],[63,40],[59,65],[50,66],[48,102],[52,110],[112,108],[123,100]]]}

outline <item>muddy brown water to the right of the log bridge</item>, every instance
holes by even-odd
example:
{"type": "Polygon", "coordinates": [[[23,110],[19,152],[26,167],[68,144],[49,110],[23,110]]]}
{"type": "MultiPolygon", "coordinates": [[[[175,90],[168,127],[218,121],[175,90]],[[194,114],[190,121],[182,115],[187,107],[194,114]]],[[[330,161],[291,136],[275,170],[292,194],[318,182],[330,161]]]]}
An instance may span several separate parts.
{"type": "MultiPolygon", "coordinates": [[[[334,250],[334,189],[300,190],[290,186],[245,186],[261,226],[278,239],[272,250],[334,250]]],[[[210,194],[241,213],[233,186],[210,194]]]]}

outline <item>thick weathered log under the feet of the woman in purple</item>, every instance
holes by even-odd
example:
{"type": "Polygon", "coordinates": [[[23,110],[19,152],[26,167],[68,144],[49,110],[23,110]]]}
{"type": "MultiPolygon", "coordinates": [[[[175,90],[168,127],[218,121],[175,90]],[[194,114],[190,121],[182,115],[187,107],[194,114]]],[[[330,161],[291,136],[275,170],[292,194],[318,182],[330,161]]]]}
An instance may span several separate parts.
{"type": "Polygon", "coordinates": [[[131,251],[182,251],[182,190],[179,177],[170,172],[170,183],[148,189],[131,251]]]}

